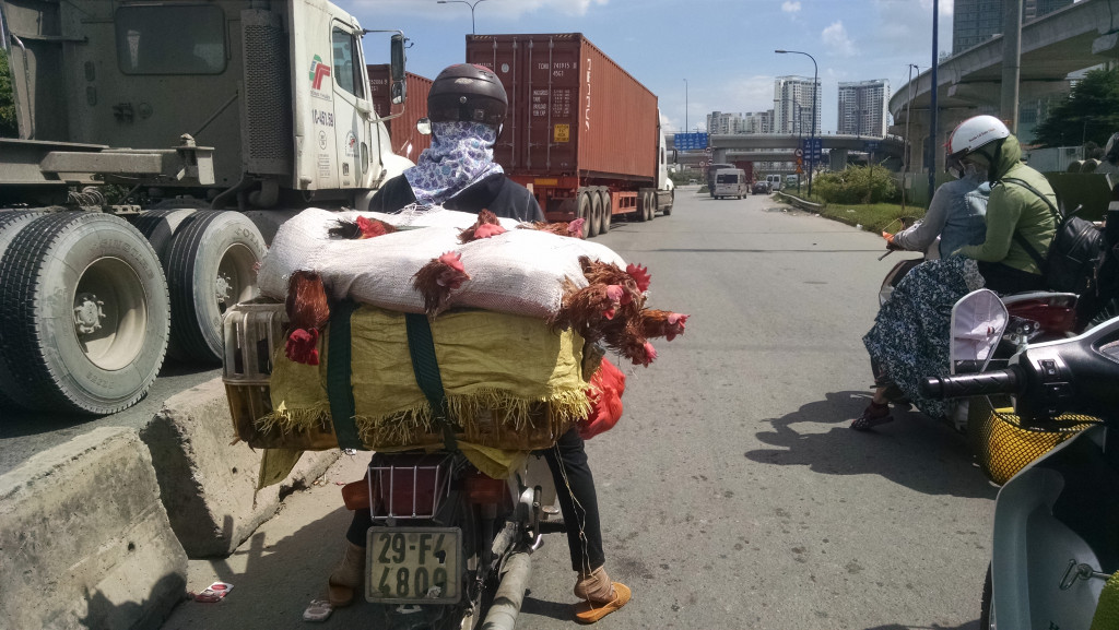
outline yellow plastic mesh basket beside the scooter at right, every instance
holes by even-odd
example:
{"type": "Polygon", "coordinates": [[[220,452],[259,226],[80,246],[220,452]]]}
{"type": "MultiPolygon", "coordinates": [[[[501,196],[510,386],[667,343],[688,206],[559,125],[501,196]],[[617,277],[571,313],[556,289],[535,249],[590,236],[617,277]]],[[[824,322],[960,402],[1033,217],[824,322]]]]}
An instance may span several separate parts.
{"type": "Polygon", "coordinates": [[[1008,403],[1005,398],[979,397],[971,398],[968,405],[971,452],[984,473],[999,486],[1061,442],[1100,422],[1088,415],[1064,414],[1025,425],[1008,403]]]}

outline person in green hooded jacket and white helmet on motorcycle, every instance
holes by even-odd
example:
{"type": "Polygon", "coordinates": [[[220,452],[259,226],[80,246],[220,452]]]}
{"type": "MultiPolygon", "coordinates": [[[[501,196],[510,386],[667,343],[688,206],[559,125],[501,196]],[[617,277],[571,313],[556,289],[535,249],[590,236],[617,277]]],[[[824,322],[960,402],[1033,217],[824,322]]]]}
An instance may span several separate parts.
{"type": "Polygon", "coordinates": [[[991,184],[984,242],[953,253],[976,260],[987,289],[996,293],[1045,289],[1042,270],[1023,242],[1043,260],[1049,254],[1056,222],[1040,196],[1056,206],[1056,194],[1049,180],[1022,161],[1018,139],[995,116],[979,115],[961,122],[948,140],[948,151],[965,163],[985,169],[991,184]]]}

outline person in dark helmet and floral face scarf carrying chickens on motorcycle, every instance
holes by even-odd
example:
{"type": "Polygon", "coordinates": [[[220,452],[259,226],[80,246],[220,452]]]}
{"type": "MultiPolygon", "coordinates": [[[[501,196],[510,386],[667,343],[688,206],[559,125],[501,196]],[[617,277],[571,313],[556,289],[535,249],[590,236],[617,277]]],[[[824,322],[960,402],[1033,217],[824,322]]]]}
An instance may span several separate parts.
{"type": "MultiPolygon", "coordinates": [[[[415,167],[385,182],[369,209],[395,213],[413,204],[441,205],[469,213],[489,209],[498,217],[523,222],[544,220],[533,194],[508,179],[493,161],[493,143],[507,107],[505,88],[490,69],[471,64],[445,68],[427,95],[431,147],[415,167]]],[[[540,454],[560,490],[567,524],[572,568],[577,573],[574,593],[583,600],[575,617],[593,623],[626,605],[630,590],[612,582],[604,568],[599,504],[583,439],[573,427],[540,454]]],[[[336,608],[349,605],[365,580],[366,532],[372,525],[368,510],[355,510],[346,553],[328,581],[329,600],[336,608]]]]}

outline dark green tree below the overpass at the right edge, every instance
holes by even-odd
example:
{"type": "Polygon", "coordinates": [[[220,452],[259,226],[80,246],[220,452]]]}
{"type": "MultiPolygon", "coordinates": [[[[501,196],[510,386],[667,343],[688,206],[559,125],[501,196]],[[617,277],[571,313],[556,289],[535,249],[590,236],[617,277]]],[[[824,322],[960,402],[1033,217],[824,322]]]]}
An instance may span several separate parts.
{"type": "Polygon", "coordinates": [[[1045,147],[1107,143],[1119,131],[1119,68],[1094,69],[1076,82],[1034,130],[1045,147]]]}

